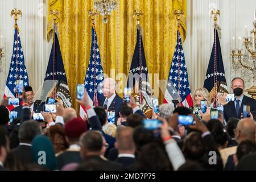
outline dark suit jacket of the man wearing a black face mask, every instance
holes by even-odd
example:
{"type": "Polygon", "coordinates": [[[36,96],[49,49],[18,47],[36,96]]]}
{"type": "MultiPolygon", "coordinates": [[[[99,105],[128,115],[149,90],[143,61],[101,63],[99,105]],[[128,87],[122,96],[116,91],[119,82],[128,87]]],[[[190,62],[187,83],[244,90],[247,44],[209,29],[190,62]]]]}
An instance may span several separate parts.
{"type": "Polygon", "coordinates": [[[224,106],[224,118],[228,121],[229,118],[241,118],[241,113],[243,111],[243,105],[250,105],[251,111],[256,111],[256,100],[247,96],[243,96],[242,104],[239,110],[239,115],[237,116],[235,101],[230,101],[224,106]]]}

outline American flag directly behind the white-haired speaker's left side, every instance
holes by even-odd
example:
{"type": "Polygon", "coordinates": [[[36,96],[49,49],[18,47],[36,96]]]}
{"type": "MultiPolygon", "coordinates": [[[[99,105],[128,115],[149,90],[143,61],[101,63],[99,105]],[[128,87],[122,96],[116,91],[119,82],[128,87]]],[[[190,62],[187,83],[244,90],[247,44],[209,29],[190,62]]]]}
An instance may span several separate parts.
{"type": "MultiPolygon", "coordinates": [[[[90,61],[86,71],[84,84],[89,95],[90,105],[98,106],[98,98],[103,96],[102,85],[104,73],[101,64],[100,49],[98,48],[97,35],[94,25],[92,26],[92,44],[90,48],[90,61]]],[[[80,117],[84,118],[85,108],[80,106],[80,117]]]]}

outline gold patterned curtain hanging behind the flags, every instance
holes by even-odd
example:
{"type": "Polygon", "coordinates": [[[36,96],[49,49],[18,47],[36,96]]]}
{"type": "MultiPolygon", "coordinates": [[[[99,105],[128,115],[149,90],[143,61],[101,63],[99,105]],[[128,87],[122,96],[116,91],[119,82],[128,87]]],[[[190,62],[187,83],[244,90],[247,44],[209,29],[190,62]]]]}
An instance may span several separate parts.
{"type": "MultiPolygon", "coordinates": [[[[107,24],[102,16],[96,16],[96,32],[100,47],[101,63],[104,73],[126,85],[127,79],[116,77],[118,73],[127,75],[136,43],[136,24],[134,10],[141,10],[143,44],[148,73],[152,74],[152,89],[159,73],[159,80],[167,80],[176,44],[177,22],[174,10],[184,11],[181,19],[181,36],[185,38],[187,0],[119,0],[116,9],[109,16],[107,24]],[[155,79],[154,79],[155,78],[155,79]]],[[[90,58],[91,19],[88,12],[93,0],[49,0],[48,10],[60,11],[60,48],[67,73],[69,89],[72,93],[73,107],[76,84],[83,83],[90,58]]],[[[49,12],[48,12],[49,13],[49,12]]],[[[52,16],[48,14],[48,32],[51,30],[52,16]]],[[[166,82],[162,87],[166,88],[166,82]]],[[[122,85],[121,84],[121,85],[122,85]]],[[[157,87],[159,88],[159,87],[157,87]]],[[[122,86],[121,86],[122,89],[122,86]]],[[[164,90],[159,90],[159,102],[163,101],[164,90]]]]}

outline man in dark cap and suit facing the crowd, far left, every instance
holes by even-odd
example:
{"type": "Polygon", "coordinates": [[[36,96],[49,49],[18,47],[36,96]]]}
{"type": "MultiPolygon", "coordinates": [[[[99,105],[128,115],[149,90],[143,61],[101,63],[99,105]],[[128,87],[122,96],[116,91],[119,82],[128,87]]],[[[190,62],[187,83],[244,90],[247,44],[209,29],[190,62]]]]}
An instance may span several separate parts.
{"type": "MultiPolygon", "coordinates": [[[[31,86],[25,86],[24,87],[24,90],[25,90],[25,94],[26,94],[26,102],[27,102],[27,105],[28,107],[30,107],[30,110],[31,111],[34,111],[35,113],[40,113],[40,111],[43,111],[43,105],[44,105],[44,102],[33,102],[33,99],[34,99],[34,92],[32,90],[32,87],[31,86]]],[[[17,117],[22,119],[22,113],[23,113],[23,105],[19,105],[18,107],[15,107],[13,109],[13,111],[16,111],[18,112],[18,115],[17,117]]]]}

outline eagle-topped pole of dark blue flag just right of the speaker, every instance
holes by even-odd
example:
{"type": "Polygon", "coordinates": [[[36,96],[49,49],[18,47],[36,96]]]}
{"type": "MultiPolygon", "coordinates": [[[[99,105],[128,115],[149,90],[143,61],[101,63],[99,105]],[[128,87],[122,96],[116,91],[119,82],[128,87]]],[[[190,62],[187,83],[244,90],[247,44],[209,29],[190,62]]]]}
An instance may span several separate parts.
{"type": "Polygon", "coordinates": [[[142,94],[142,32],[139,24],[140,16],[143,15],[141,10],[133,11],[133,18],[137,19],[137,29],[139,30],[139,104],[143,104],[142,94]]]}

